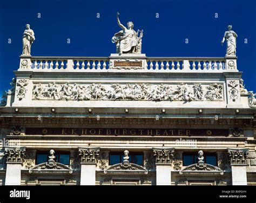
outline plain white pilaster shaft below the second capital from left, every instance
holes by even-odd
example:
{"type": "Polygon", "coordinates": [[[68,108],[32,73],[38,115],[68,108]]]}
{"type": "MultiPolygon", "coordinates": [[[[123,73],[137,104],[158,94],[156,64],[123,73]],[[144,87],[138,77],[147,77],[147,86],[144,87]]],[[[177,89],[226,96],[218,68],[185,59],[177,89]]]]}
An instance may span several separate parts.
{"type": "Polygon", "coordinates": [[[96,181],[96,164],[81,163],[80,185],[95,185],[96,181]]]}

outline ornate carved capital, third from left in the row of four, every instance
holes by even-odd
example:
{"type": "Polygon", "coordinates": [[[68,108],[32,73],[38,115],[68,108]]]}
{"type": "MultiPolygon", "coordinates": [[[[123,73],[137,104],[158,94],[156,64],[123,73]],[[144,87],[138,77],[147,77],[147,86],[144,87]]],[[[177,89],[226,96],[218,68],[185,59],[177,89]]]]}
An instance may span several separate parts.
{"type": "Polygon", "coordinates": [[[153,155],[156,164],[172,164],[174,148],[154,148],[153,155]]]}

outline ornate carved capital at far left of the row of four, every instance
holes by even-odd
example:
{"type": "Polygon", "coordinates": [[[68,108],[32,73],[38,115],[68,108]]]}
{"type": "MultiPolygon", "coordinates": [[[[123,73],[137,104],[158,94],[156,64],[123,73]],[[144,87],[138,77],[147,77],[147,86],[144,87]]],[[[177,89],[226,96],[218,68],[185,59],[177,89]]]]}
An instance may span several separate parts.
{"type": "Polygon", "coordinates": [[[6,162],[22,163],[26,147],[5,147],[6,162]]]}

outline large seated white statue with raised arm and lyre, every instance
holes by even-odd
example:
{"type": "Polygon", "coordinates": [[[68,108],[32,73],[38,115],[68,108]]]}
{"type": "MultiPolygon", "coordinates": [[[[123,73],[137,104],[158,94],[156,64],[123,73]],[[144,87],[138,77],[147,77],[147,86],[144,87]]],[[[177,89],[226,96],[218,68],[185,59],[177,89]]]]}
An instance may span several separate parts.
{"type": "Polygon", "coordinates": [[[117,24],[122,30],[112,37],[112,43],[116,43],[116,52],[119,55],[122,53],[141,53],[143,30],[134,31],[132,22],[128,22],[127,28],[125,28],[119,21],[119,12],[117,12],[117,24]]]}

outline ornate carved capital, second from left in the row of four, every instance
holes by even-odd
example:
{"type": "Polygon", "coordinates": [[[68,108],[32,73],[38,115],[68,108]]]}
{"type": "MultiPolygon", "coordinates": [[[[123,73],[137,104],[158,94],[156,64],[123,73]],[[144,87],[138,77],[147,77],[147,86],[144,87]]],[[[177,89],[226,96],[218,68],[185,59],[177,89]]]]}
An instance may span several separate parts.
{"type": "Polygon", "coordinates": [[[81,147],[78,150],[81,163],[97,163],[99,147],[81,147]]]}

